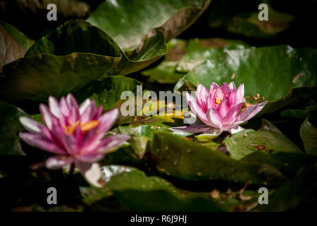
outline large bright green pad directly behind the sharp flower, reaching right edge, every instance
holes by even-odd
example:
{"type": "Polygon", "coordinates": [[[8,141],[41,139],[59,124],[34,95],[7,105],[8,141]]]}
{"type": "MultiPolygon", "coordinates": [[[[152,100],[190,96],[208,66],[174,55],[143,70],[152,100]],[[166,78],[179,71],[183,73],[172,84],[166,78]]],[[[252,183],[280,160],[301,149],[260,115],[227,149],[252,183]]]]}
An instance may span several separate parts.
{"type": "Polygon", "coordinates": [[[186,83],[207,87],[212,82],[244,83],[245,95],[259,94],[269,101],[263,112],[273,112],[286,103],[317,93],[316,87],[311,87],[317,85],[316,57],[316,49],[286,45],[228,50],[196,66],[175,85],[175,90],[186,83]]]}

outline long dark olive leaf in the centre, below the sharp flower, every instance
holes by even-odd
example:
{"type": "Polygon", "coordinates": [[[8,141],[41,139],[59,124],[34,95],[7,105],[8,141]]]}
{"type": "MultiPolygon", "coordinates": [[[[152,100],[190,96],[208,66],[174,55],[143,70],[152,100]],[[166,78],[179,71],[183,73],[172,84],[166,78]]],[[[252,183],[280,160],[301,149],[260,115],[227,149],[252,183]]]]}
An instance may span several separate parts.
{"type": "Polygon", "coordinates": [[[160,172],[181,179],[222,179],[253,184],[276,184],[285,179],[270,165],[232,160],[217,150],[169,133],[154,134],[151,155],[160,172]]]}

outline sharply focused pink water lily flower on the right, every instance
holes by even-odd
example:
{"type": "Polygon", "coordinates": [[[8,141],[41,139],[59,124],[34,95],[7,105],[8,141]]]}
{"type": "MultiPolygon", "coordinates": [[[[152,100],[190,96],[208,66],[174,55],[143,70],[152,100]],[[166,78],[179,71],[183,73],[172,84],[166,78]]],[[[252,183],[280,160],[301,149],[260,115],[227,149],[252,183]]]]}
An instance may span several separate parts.
{"type": "Polygon", "coordinates": [[[217,83],[211,83],[210,89],[199,84],[196,99],[186,93],[186,100],[202,123],[174,127],[173,130],[203,133],[213,138],[219,136],[222,131],[235,133],[243,130],[239,125],[254,117],[267,103],[263,101],[242,109],[244,84],[236,89],[233,81],[229,84],[223,83],[221,87],[217,83]]]}

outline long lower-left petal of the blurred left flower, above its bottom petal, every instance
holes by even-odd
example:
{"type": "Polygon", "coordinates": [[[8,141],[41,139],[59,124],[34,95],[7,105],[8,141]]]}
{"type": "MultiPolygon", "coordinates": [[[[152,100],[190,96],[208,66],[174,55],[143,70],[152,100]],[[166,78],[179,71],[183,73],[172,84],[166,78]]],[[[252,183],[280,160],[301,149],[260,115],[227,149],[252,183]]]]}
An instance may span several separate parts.
{"type": "Polygon", "coordinates": [[[35,133],[19,133],[20,138],[25,143],[42,150],[46,150],[50,153],[65,155],[66,152],[59,148],[55,143],[46,141],[41,135],[35,133]]]}

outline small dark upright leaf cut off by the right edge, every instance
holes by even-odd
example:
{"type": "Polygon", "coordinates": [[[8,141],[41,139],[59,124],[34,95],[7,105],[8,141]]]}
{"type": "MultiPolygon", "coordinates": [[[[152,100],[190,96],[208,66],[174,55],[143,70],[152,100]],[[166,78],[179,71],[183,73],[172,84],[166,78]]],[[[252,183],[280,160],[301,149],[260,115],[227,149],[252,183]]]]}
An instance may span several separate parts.
{"type": "Polygon", "coordinates": [[[304,143],[306,153],[317,157],[317,129],[306,119],[299,133],[304,143]]]}

